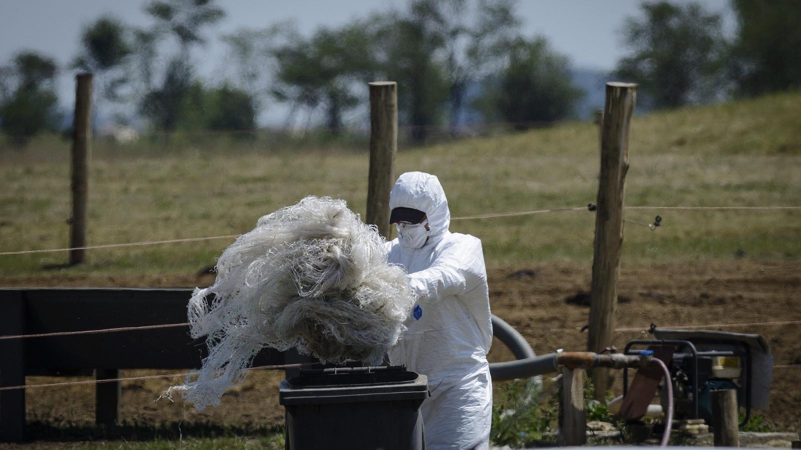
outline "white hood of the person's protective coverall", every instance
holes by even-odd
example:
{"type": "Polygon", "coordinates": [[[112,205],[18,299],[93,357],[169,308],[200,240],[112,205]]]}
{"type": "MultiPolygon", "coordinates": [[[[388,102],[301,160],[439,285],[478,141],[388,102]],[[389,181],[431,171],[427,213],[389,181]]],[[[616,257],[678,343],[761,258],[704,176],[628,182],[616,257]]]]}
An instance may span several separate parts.
{"type": "Polygon", "coordinates": [[[425,212],[429,219],[431,238],[427,247],[437,243],[450,226],[450,210],[445,191],[436,175],[425,172],[406,172],[398,177],[389,193],[389,209],[414,208],[425,212]]]}

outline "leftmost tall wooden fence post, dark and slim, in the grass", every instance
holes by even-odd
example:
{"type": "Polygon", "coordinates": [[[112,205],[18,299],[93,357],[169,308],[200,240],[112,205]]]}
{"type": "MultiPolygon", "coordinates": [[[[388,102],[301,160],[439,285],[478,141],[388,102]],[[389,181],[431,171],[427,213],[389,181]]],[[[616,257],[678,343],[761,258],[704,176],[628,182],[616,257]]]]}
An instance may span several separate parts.
{"type": "MultiPolygon", "coordinates": [[[[72,131],[72,217],[70,247],[87,245],[87,196],[92,127],[92,74],[78,74],[75,84],[75,115],[72,131]]],[[[83,263],[86,251],[70,250],[70,265],[83,263]]]]}

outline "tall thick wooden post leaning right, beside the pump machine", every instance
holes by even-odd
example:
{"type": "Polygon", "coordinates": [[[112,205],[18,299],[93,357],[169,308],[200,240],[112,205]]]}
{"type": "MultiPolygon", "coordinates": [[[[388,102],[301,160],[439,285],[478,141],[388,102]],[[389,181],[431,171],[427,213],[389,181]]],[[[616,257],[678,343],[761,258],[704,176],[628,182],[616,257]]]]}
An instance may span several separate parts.
{"type": "MultiPolygon", "coordinates": [[[[629,128],[634,115],[637,85],[606,83],[602,119],[601,174],[595,215],[590,333],[587,351],[601,352],[612,344],[618,303],[618,267],[623,242],[623,195],[629,169],[629,128]]],[[[596,368],[592,378],[595,399],[606,400],[609,369],[596,368]]]]}

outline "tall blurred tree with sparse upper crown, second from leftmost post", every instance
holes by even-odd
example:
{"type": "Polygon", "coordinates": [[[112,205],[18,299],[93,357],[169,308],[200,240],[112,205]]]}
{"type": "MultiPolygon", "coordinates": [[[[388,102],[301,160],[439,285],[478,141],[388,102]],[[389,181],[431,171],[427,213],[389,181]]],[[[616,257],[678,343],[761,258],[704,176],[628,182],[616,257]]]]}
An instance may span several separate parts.
{"type": "MultiPolygon", "coordinates": [[[[213,0],[153,0],[147,4],[145,12],[155,18],[156,25],[153,30],[138,34],[140,42],[149,44],[143,51],[151,54],[155,49],[153,41],[167,33],[178,40],[179,50],[167,63],[161,86],[151,87],[139,109],[156,127],[171,131],[179,126],[181,116],[187,112],[183,108],[194,78],[191,49],[205,43],[202,30],[219,22],[225,13],[213,0]]],[[[147,70],[152,70],[152,66],[147,70]]],[[[152,79],[152,71],[147,74],[152,79]]]]}

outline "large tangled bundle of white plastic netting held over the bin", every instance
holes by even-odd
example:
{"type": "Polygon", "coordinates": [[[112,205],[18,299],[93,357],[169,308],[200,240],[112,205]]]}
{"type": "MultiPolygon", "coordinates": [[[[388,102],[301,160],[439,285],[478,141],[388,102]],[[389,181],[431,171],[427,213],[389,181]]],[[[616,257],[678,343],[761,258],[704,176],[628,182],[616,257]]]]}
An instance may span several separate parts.
{"type": "Polygon", "coordinates": [[[405,275],[344,200],[309,196],[265,215],[223,251],[214,285],[189,300],[191,336],[207,336],[209,355],[170,392],[198,410],[219,404],[264,347],[376,364],[413,304],[405,275]]]}

